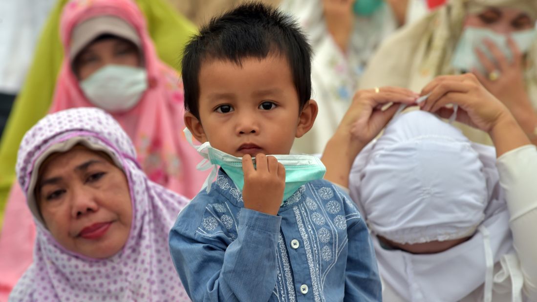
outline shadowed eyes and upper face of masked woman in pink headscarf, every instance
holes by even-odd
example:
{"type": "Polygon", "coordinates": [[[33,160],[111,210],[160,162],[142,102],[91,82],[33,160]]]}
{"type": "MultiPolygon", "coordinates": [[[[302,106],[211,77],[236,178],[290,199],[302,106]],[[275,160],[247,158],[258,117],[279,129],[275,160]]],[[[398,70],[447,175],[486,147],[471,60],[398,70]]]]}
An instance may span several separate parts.
{"type": "Polygon", "coordinates": [[[125,39],[97,39],[82,49],[75,57],[73,66],[78,80],[83,81],[108,64],[139,67],[141,59],[138,48],[125,39]]]}

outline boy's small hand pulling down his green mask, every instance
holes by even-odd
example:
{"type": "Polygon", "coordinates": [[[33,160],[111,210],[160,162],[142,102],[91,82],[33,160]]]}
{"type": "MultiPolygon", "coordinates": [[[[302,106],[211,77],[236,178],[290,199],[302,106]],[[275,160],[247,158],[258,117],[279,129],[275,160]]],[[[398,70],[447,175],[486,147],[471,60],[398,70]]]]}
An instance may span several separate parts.
{"type": "Polygon", "coordinates": [[[244,207],[250,210],[276,215],[284,199],[285,168],[274,156],[256,155],[256,168],[252,156],[242,157],[244,207]]]}

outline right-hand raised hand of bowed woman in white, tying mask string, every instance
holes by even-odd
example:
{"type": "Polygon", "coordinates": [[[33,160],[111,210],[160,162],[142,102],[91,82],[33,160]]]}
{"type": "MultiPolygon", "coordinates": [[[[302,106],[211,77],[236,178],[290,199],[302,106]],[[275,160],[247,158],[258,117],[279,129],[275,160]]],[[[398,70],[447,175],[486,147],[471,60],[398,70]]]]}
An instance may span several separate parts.
{"type": "Polygon", "coordinates": [[[422,90],[427,94],[422,110],[448,118],[454,110],[446,106],[458,105],[456,120],[489,133],[497,156],[530,143],[509,109],[473,74],[439,76],[422,90]]]}

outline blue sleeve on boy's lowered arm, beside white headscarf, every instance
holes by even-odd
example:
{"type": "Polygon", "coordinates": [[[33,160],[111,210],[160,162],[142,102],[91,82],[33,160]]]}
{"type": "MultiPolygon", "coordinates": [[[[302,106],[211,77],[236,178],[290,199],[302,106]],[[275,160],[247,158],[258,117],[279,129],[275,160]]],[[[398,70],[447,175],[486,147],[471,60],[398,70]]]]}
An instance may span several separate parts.
{"type": "MultiPolygon", "coordinates": [[[[348,200],[352,203],[350,198],[348,200]]],[[[349,211],[347,221],[360,215],[354,206],[351,208],[354,211],[349,211]]],[[[369,231],[364,219],[352,219],[352,221],[347,227],[349,254],[345,271],[344,301],[382,301],[379,268],[369,231]]]]}

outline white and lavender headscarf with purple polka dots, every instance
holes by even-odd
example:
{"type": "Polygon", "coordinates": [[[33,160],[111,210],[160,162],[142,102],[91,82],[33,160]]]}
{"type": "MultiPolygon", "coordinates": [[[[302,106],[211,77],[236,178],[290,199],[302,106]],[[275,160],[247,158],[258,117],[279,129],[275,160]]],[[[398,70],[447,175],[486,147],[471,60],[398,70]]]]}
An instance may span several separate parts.
{"type": "MultiPolygon", "coordinates": [[[[105,147],[122,163],[129,182],[133,222],[124,248],[97,260],[64,249],[34,217],[34,262],[11,292],[14,301],[188,301],[173,267],[168,233],[188,203],[149,181],[137,166],[132,142],[117,122],[100,109],[81,108],[51,114],[24,136],[17,158],[17,179],[26,188],[37,157],[72,138],[105,147]]],[[[33,191],[33,188],[30,188],[33,191]]]]}

